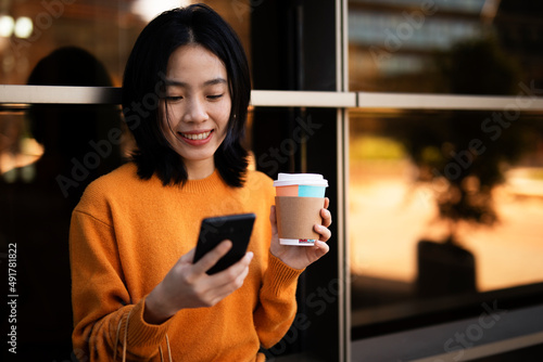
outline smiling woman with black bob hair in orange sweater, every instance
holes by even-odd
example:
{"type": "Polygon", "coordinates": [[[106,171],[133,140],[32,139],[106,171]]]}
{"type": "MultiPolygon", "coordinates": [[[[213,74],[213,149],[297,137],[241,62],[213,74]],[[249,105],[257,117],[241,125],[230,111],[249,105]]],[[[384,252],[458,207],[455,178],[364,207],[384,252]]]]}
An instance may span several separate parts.
{"type": "Polygon", "coordinates": [[[260,346],[272,347],[292,323],[299,275],[328,251],[328,199],[314,247],[279,245],[273,182],[247,170],[240,145],[248,62],[210,8],[153,20],[123,92],[138,151],[86,190],[72,218],[76,357],[263,361],[260,346]],[[207,275],[231,242],[193,263],[201,220],[244,212],[256,215],[248,253],[207,275]]]}

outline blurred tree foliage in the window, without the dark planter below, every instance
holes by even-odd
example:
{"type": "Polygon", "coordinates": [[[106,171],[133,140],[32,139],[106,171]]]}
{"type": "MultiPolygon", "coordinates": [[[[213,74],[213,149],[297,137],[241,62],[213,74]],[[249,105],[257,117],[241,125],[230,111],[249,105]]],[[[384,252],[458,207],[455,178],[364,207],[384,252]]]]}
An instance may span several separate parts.
{"type": "MultiPolygon", "coordinates": [[[[456,44],[435,56],[440,87],[456,94],[521,92],[518,65],[492,38],[456,44]]],[[[526,94],[523,94],[526,95],[526,94]]],[[[401,135],[419,169],[420,181],[432,182],[440,216],[451,222],[454,240],[459,221],[492,225],[497,215],[492,190],[504,181],[508,165],[526,151],[526,125],[520,108],[504,104],[494,112],[453,111],[439,120],[415,120],[401,135]]]]}

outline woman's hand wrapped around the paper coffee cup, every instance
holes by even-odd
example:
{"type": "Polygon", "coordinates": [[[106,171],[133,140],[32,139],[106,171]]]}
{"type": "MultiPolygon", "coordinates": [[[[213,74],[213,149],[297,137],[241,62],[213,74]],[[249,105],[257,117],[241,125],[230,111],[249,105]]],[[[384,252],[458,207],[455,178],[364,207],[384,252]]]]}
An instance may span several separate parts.
{"type": "Polygon", "coordinates": [[[317,261],[320,257],[328,253],[330,247],[326,242],[330,238],[331,232],[328,227],[332,223],[332,216],[328,210],[330,199],[325,197],[325,207],[320,209],[323,224],[315,224],[313,229],[320,237],[315,241],[313,246],[292,246],[279,244],[279,235],[277,234],[277,218],[275,215],[275,206],[272,206],[269,212],[269,221],[272,222],[272,245],[269,250],[279,258],[282,262],[293,269],[304,269],[311,263],[317,261]]]}

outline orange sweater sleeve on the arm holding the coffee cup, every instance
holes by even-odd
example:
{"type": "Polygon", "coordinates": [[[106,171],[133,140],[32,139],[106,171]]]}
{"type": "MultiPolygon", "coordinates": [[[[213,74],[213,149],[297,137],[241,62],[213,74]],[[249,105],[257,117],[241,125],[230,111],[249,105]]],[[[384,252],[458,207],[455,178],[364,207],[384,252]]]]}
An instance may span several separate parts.
{"type": "Polygon", "coordinates": [[[302,272],[268,254],[260,305],[254,312],[254,325],[264,348],[273,347],[289,331],[296,313],[295,293],[302,272]]]}

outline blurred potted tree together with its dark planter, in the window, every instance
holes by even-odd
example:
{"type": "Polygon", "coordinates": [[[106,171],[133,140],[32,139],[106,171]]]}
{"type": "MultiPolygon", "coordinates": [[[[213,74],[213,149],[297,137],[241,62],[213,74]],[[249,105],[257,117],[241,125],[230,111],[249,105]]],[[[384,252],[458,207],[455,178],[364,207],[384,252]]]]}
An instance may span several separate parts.
{"type": "MultiPolygon", "coordinates": [[[[435,55],[440,91],[513,95],[522,92],[520,68],[492,38],[456,44],[435,55]]],[[[526,87],[525,87],[526,88],[526,87]]],[[[522,94],[533,95],[533,94],[522,94]]],[[[476,290],[475,258],[462,248],[458,225],[498,221],[492,191],[519,160],[533,133],[521,120],[521,103],[494,112],[452,111],[444,118],[413,118],[392,130],[417,166],[417,179],[432,185],[439,216],[449,227],[444,241],[418,245],[418,292],[438,296],[476,290]]]]}

